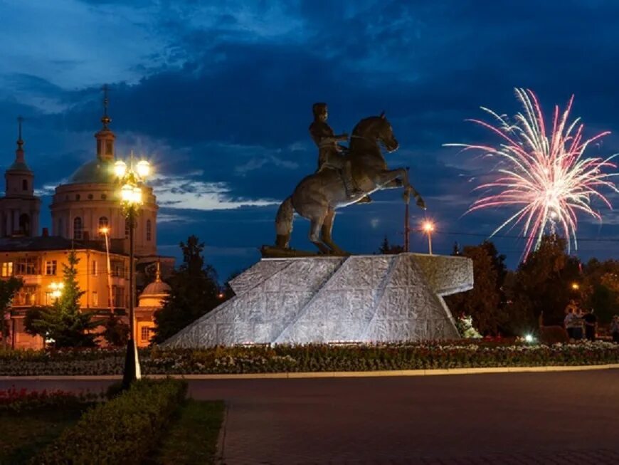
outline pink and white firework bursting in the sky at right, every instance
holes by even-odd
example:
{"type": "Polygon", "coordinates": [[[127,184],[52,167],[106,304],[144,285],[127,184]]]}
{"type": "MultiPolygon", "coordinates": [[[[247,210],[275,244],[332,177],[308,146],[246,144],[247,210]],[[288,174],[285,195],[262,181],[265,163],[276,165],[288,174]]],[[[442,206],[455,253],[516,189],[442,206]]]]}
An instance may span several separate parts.
{"type": "Polygon", "coordinates": [[[492,236],[508,225],[522,225],[523,234],[527,237],[524,258],[539,246],[546,231],[562,232],[568,244],[573,241],[578,249],[576,214],[584,211],[601,220],[598,211],[591,208],[591,200],[596,197],[612,208],[599,189],[608,187],[619,192],[610,180],[617,174],[603,172],[603,169],[616,169],[611,160],[619,154],[606,159],[583,155],[591,142],[610,132],[601,132],[583,140],[580,119],[568,122],[573,95],[562,113],[559,106],[554,108],[550,132],[546,130],[544,115],[535,94],[528,89],[516,89],[516,95],[524,112],[515,115],[514,124],[509,124],[506,117],[487,108],[482,110],[490,113],[497,125],[469,120],[498,135],[502,142],[497,147],[447,144],[464,147],[464,150],[482,150],[486,157],[499,161],[497,169],[492,172],[496,174],[495,179],[475,189],[485,189],[484,197],[473,203],[467,213],[488,207],[517,207],[516,213],[495,229],[492,236]]]}

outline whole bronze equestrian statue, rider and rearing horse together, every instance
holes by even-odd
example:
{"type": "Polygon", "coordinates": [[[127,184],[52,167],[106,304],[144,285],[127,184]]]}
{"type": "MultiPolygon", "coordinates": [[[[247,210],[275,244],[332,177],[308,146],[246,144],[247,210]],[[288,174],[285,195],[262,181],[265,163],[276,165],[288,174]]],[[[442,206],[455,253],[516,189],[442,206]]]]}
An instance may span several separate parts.
{"type": "Polygon", "coordinates": [[[405,168],[388,169],[381,153],[398,149],[391,124],[383,112],[367,117],[354,127],[349,148],[339,145],[348,135],[336,135],[327,124],[327,104],[314,103],[314,122],[309,126],[318,146],[318,169],[301,180],[292,195],[282,202],[275,216],[275,246],[263,246],[263,256],[307,256],[307,252],[290,249],[292,218],[296,211],[309,219],[309,240],[321,254],[346,255],[332,239],[335,210],[356,203],[369,203],[369,194],[382,189],[403,187],[406,204],[411,194],[418,207],[425,202],[408,182],[405,168]]]}

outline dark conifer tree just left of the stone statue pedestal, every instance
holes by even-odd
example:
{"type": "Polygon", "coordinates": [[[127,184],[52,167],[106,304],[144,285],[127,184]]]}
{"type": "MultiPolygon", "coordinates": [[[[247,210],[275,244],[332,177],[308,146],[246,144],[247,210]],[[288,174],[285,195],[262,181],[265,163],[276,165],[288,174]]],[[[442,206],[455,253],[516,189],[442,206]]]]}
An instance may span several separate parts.
{"type": "Polygon", "coordinates": [[[163,308],[154,313],[155,343],[164,342],[221,302],[215,269],[204,263],[204,244],[189,236],[180,247],[183,263],[169,279],[171,291],[163,308]]]}

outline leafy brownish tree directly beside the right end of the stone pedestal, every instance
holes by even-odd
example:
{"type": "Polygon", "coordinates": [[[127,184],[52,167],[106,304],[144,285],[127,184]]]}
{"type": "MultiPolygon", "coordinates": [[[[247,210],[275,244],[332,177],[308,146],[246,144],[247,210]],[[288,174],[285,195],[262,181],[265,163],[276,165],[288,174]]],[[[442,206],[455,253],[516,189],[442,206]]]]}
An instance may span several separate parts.
{"type": "Polygon", "coordinates": [[[470,291],[447,296],[445,301],[457,318],[470,315],[472,325],[482,335],[497,335],[504,323],[501,306],[504,257],[497,258],[497,249],[487,241],[479,246],[465,246],[458,254],[472,259],[475,286],[470,291]]]}

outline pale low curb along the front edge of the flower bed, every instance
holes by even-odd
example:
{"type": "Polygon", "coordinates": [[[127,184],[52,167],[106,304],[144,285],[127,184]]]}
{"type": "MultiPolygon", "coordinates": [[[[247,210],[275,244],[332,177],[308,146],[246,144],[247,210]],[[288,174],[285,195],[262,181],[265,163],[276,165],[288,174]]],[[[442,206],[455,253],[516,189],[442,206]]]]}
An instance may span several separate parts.
{"type": "MultiPolygon", "coordinates": [[[[413,377],[440,375],[486,375],[492,373],[539,373],[616,370],[619,363],[608,365],[561,365],[544,367],[483,367],[483,368],[445,368],[435,370],[383,370],[351,372],[287,372],[287,373],[240,373],[231,375],[145,375],[154,380],[166,377],[185,380],[300,380],[309,378],[369,378],[369,377],[413,377]]],[[[116,381],[122,375],[41,375],[41,376],[0,376],[0,381],[116,381]]]]}

